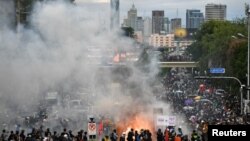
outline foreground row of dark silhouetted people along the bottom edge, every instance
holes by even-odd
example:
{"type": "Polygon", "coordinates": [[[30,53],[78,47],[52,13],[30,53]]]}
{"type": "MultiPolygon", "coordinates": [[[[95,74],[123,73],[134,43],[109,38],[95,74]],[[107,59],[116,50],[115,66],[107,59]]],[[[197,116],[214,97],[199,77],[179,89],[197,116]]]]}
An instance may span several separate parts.
{"type": "MultiPolygon", "coordinates": [[[[74,134],[72,130],[63,129],[61,133],[57,131],[50,131],[50,128],[43,130],[43,128],[33,128],[31,132],[26,133],[25,130],[21,131],[6,131],[2,130],[0,141],[88,141],[88,140],[100,140],[100,141],[188,141],[188,136],[184,135],[181,128],[175,131],[174,127],[166,127],[162,132],[158,129],[156,133],[156,139],[148,129],[141,129],[140,131],[130,129],[128,133],[123,132],[118,135],[116,129],[108,135],[103,136],[89,136],[86,131],[80,130],[77,134],[74,134]]],[[[199,141],[200,136],[193,130],[191,134],[191,141],[199,141]]]]}

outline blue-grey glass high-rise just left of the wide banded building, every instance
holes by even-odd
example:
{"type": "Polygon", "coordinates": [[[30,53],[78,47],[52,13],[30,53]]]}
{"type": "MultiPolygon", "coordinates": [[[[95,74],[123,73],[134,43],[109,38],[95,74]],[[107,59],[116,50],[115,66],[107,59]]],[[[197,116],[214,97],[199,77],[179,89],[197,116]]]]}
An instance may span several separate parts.
{"type": "Polygon", "coordinates": [[[187,9],[186,28],[199,28],[203,22],[204,22],[204,16],[200,10],[187,9]]]}

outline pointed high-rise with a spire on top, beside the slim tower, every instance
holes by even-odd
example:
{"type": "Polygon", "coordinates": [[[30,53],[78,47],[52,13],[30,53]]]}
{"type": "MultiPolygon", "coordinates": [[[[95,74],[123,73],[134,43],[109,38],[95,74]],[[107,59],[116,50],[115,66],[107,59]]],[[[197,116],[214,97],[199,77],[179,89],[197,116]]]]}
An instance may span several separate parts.
{"type": "Polygon", "coordinates": [[[132,27],[134,30],[136,30],[136,21],[137,21],[137,9],[133,4],[132,8],[128,11],[127,26],[132,27]]]}

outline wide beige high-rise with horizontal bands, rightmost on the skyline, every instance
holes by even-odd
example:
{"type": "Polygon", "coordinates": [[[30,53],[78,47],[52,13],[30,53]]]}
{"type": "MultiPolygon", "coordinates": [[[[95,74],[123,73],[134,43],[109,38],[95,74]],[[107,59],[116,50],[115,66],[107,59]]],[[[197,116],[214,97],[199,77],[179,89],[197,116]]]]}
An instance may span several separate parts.
{"type": "Polygon", "coordinates": [[[205,8],[205,19],[226,20],[227,6],[223,4],[207,4],[205,8]]]}

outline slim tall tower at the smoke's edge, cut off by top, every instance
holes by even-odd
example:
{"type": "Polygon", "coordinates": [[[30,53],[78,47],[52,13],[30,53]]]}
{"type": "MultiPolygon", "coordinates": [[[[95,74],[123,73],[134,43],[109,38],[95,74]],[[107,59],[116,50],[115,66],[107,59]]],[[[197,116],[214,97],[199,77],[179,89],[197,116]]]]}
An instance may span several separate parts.
{"type": "Polygon", "coordinates": [[[111,29],[116,29],[116,28],[119,28],[119,26],[120,26],[119,0],[110,0],[110,6],[111,6],[110,27],[111,27],[111,29]]]}

